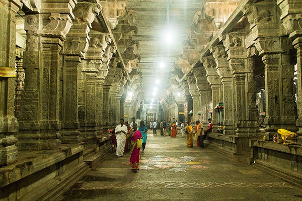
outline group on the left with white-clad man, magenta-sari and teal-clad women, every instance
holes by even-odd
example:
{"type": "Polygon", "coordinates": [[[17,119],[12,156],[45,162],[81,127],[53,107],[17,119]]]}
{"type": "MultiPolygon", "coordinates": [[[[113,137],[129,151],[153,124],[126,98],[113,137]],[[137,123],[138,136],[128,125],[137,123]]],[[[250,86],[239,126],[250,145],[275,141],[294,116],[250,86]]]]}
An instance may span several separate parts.
{"type": "Polygon", "coordinates": [[[116,157],[122,157],[124,152],[131,152],[130,166],[133,172],[139,169],[140,148],[137,148],[137,140],[142,139],[142,152],[147,141],[147,127],[143,121],[138,123],[135,118],[132,122],[124,122],[120,119],[120,124],[116,126],[114,134],[111,136],[111,144],[115,149],[116,157]]]}

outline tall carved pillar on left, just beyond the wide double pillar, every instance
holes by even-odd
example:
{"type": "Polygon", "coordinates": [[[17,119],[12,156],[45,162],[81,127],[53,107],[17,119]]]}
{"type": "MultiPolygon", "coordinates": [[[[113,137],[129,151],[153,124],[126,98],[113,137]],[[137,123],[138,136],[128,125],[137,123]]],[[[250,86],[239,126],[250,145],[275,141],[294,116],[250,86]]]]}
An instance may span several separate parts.
{"type": "MultiPolygon", "coordinates": [[[[96,4],[91,3],[79,3],[73,10],[75,14],[75,20],[72,22],[72,27],[66,35],[63,47],[63,93],[62,93],[62,130],[61,142],[62,143],[79,143],[79,95],[80,99],[85,96],[80,91],[84,90],[85,79],[80,81],[80,74],[82,73],[82,65],[85,65],[84,58],[86,56],[89,47],[89,32],[90,21],[94,20],[100,10],[96,4]],[[90,9],[95,10],[92,13],[90,9]],[[87,15],[90,14],[90,21],[83,21],[83,16],[80,13],[87,11],[87,15]],[[78,90],[78,88],[81,90],[78,90]]],[[[85,104],[81,103],[81,107],[85,104]]],[[[82,110],[81,108],[79,108],[82,110]]],[[[80,118],[83,120],[83,118],[80,118]]],[[[83,120],[84,121],[84,120],[83,120]]]]}

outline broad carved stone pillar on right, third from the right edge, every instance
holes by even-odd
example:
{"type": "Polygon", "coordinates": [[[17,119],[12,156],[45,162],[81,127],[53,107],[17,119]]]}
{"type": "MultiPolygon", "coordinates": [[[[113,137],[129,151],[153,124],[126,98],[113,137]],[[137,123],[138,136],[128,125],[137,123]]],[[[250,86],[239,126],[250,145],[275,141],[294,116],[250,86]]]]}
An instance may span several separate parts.
{"type": "MultiPolygon", "coordinates": [[[[228,54],[229,69],[233,75],[232,83],[228,78],[229,75],[225,77],[225,81],[233,85],[233,117],[236,134],[253,136],[259,132],[256,82],[253,79],[254,63],[252,58],[247,57],[246,46],[243,42],[245,41],[245,28],[238,27],[237,29],[238,32],[228,33],[220,37],[220,41],[223,42],[228,54]]],[[[224,73],[228,74],[229,72],[224,73]]]]}

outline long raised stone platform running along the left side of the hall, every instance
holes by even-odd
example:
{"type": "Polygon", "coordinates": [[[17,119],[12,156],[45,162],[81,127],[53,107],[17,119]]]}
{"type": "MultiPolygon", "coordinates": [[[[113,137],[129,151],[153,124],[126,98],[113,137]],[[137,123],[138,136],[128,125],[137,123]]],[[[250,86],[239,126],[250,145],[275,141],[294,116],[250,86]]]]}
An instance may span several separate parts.
{"type": "Polygon", "coordinates": [[[98,140],[90,149],[63,144],[57,150],[19,151],[15,164],[0,168],[0,200],[52,200],[109,153],[110,135],[98,140]]]}

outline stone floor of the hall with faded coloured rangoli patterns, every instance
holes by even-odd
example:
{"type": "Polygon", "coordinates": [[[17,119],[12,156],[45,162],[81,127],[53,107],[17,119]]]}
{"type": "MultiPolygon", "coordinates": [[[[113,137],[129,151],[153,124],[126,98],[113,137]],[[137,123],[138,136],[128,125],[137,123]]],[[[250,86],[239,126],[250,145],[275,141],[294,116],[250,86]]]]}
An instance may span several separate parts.
{"type": "Polygon", "coordinates": [[[148,134],[137,173],[129,157],[107,156],[57,200],[302,200],[300,188],[180,135],[148,134]]]}

